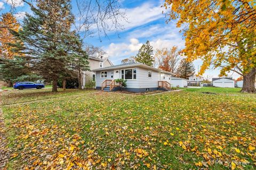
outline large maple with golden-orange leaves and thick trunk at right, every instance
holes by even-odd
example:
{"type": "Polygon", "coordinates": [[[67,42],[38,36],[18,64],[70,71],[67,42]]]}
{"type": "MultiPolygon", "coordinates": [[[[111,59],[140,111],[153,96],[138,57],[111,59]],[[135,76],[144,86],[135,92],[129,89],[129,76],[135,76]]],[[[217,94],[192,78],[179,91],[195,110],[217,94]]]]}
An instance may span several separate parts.
{"type": "Polygon", "coordinates": [[[256,3],[253,0],[165,0],[168,20],[182,27],[188,61],[203,60],[220,75],[234,71],[243,76],[243,92],[256,92],[256,3]]]}

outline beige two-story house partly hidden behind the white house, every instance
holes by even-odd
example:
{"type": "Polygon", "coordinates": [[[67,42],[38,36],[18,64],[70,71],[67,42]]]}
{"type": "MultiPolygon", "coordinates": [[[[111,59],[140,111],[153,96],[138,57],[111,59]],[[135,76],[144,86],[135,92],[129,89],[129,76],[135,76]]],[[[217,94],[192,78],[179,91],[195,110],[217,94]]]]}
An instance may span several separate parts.
{"type": "Polygon", "coordinates": [[[83,72],[83,83],[82,83],[83,88],[86,86],[91,86],[91,84],[95,83],[96,74],[91,70],[113,66],[113,63],[108,58],[103,59],[102,57],[101,58],[89,57],[88,61],[89,61],[90,71],[83,72]]]}

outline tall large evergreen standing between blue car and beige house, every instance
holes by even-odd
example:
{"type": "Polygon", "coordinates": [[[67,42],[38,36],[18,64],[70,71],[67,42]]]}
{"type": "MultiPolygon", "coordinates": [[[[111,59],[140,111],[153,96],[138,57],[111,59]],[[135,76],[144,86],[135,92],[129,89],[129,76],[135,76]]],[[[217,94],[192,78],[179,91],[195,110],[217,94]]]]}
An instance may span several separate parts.
{"type": "Polygon", "coordinates": [[[87,55],[80,55],[82,41],[70,31],[74,23],[70,0],[38,0],[36,5],[31,7],[33,15],[26,14],[22,30],[14,35],[24,42],[26,49],[21,51],[31,69],[52,81],[52,91],[57,91],[57,81],[73,74],[77,66],[88,70],[87,55]]]}

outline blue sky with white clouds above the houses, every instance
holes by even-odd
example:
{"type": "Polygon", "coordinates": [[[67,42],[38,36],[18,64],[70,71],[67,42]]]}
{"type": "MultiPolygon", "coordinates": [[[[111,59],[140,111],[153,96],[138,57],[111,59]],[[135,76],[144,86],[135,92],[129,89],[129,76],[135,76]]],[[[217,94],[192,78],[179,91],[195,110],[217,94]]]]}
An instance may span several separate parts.
{"type": "MultiPolygon", "coordinates": [[[[120,0],[119,0],[120,1],[120,0]]],[[[142,44],[150,41],[154,51],[161,48],[171,48],[178,46],[178,49],[185,47],[180,28],[176,28],[175,21],[166,23],[162,0],[121,0],[121,10],[125,11],[127,22],[120,21],[123,29],[107,32],[104,35],[95,35],[86,37],[84,43],[102,47],[107,56],[114,64],[120,64],[124,58],[129,58],[138,53],[142,44]]],[[[7,12],[10,9],[11,0],[0,0],[0,13],[7,12]]],[[[25,13],[31,13],[28,5],[22,3],[21,0],[14,0],[16,7],[15,16],[20,22],[25,13]]],[[[73,13],[77,12],[75,8],[75,0],[72,2],[73,13]]],[[[201,60],[193,62],[196,72],[198,67],[202,65],[201,60]]],[[[220,69],[209,69],[204,73],[204,77],[218,77],[220,69]]],[[[228,73],[228,77],[238,78],[239,75],[233,72],[228,73]]]]}

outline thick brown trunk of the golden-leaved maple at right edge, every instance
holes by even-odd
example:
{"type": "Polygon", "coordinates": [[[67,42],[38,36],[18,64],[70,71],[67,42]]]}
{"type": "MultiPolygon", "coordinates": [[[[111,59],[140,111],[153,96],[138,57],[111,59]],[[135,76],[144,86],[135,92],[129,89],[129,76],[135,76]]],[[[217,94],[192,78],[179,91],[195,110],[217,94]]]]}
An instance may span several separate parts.
{"type": "Polygon", "coordinates": [[[244,74],[243,76],[243,88],[242,92],[249,92],[254,93],[255,90],[255,75],[256,75],[256,68],[253,68],[249,73],[244,74]]]}

